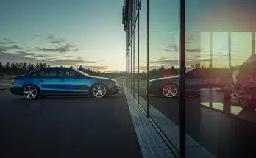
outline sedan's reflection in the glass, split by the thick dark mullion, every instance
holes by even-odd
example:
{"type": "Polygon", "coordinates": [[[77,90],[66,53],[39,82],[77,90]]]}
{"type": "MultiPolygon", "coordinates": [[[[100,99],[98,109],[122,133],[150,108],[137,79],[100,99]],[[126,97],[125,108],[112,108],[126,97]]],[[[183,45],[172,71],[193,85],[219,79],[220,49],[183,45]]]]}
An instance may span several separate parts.
{"type": "MultiPolygon", "coordinates": [[[[224,87],[218,83],[218,76],[210,68],[190,68],[185,71],[185,90],[200,91],[201,88],[224,87]]],[[[149,81],[149,93],[168,98],[179,96],[179,75],[152,79],[149,81]]]]}

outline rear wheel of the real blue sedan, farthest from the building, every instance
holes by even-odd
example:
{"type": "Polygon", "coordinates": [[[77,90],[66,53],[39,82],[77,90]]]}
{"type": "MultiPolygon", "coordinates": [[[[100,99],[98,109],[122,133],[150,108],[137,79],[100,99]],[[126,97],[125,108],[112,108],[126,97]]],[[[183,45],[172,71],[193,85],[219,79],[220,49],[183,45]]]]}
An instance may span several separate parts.
{"type": "Polygon", "coordinates": [[[39,90],[35,85],[26,85],[22,88],[22,96],[26,100],[35,100],[38,98],[39,90]]]}

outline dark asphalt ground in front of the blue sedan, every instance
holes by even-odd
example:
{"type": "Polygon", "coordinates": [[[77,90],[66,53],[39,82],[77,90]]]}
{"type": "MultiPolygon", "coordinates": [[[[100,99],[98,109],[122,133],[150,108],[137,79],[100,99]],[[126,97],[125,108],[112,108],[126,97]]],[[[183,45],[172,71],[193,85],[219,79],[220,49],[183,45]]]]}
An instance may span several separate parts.
{"type": "Polygon", "coordinates": [[[122,92],[104,99],[0,96],[0,157],[142,157],[122,92]]]}

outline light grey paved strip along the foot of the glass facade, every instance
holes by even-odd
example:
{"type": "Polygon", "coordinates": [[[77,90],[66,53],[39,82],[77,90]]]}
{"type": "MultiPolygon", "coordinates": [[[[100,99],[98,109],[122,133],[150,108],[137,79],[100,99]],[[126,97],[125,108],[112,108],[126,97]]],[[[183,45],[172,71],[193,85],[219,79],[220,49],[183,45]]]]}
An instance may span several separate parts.
{"type": "Polygon", "coordinates": [[[132,121],[135,126],[135,132],[138,137],[139,145],[141,146],[143,157],[174,157],[166,146],[166,143],[163,142],[162,138],[156,132],[156,129],[152,126],[152,123],[142,112],[141,107],[138,107],[135,98],[127,91],[128,90],[124,88],[129,111],[131,116],[134,117],[132,121]],[[156,140],[158,140],[159,143],[157,143],[156,140]],[[166,150],[161,151],[161,148],[165,148],[166,150]]]}

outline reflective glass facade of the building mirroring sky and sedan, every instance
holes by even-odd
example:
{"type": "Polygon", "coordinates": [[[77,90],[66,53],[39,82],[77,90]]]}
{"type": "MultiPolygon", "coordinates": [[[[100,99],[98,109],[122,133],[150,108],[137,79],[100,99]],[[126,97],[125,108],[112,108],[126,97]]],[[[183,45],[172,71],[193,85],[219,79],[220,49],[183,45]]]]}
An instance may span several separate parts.
{"type": "Polygon", "coordinates": [[[234,72],[255,54],[256,2],[185,1],[185,30],[182,0],[124,2],[127,89],[174,154],[255,157],[256,106],[253,99],[244,104],[246,91],[234,88],[234,72]]]}

